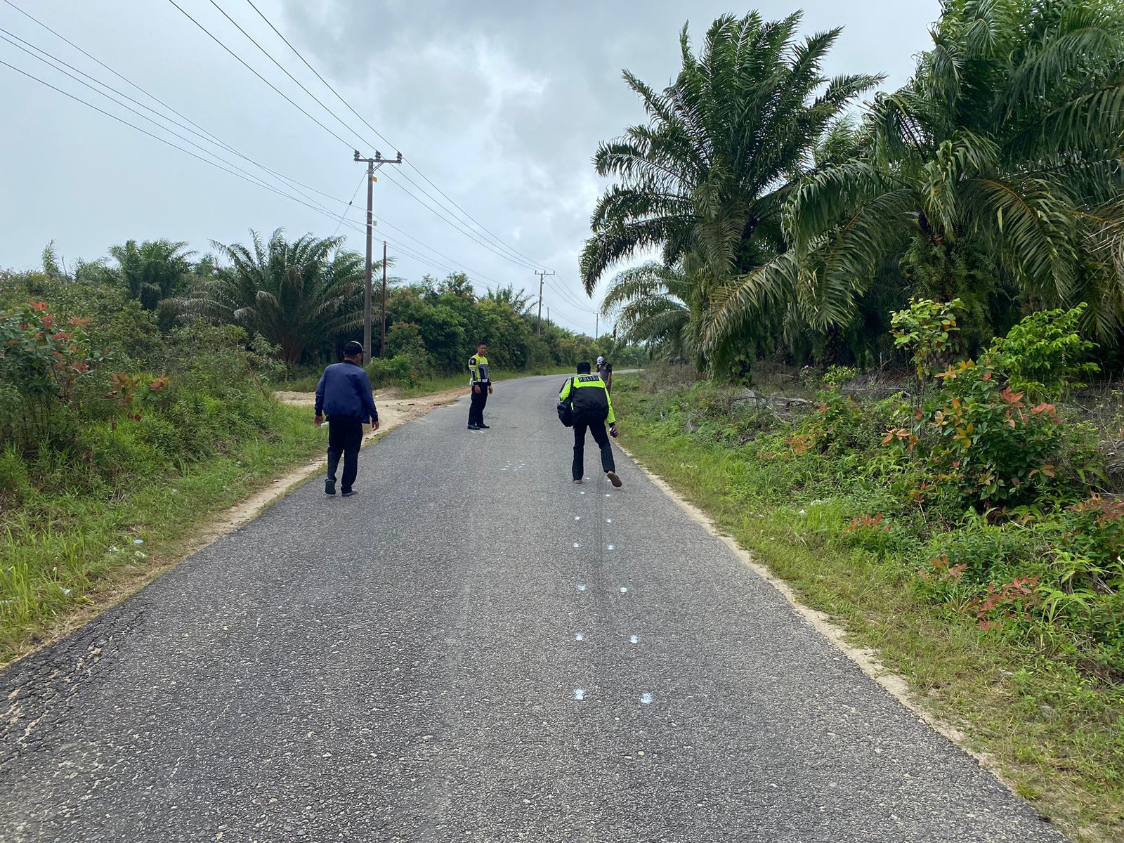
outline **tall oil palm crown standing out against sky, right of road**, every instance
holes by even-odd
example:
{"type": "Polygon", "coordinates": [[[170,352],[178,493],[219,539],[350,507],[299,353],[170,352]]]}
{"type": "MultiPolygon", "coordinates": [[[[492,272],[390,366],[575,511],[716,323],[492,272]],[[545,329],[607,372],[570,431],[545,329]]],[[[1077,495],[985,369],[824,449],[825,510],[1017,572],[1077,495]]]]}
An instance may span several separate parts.
{"type": "Polygon", "coordinates": [[[799,12],[720,17],[698,57],[685,26],[682,70],[662,92],[625,71],[650,119],[593,158],[617,182],[597,203],[581,255],[587,292],[614,263],[658,248],[664,265],[691,268],[700,324],[716,287],[783,250],[781,212],[814,144],[878,82],[826,79],[821,67],[841,30],[797,40],[799,22],[799,12]]]}

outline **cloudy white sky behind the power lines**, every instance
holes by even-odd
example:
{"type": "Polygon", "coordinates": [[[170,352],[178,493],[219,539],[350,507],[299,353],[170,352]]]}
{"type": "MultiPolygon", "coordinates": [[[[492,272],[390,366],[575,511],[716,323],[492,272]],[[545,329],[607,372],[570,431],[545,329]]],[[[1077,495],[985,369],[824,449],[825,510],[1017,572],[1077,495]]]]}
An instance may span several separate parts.
{"type": "MultiPolygon", "coordinates": [[[[678,34],[686,21],[699,42],[720,13],[758,8],[779,18],[803,6],[806,34],[844,27],[827,73],[886,73],[885,87],[892,88],[926,47],[927,25],[939,11],[939,0],[759,0],[746,7],[710,0],[254,0],[383,140],[317,81],[247,0],[175,2],[327,128],[255,78],[172,0],[0,0],[0,38],[21,38],[160,108],[15,7],[34,15],[174,108],[199,127],[193,130],[210,133],[255,164],[176,132],[279,189],[283,183],[256,164],[323,191],[301,188],[310,197],[301,201],[324,209],[221,172],[0,65],[6,118],[0,268],[36,265],[52,239],[69,262],[99,257],[128,238],[187,241],[205,252],[212,239],[245,241],[251,228],[329,235],[341,214],[346,221],[339,233],[362,251],[363,192],[350,210],[346,205],[362,181],[352,149],[364,155],[401,151],[417,169],[395,167],[401,172],[380,175],[374,188],[375,216],[382,220],[375,237],[392,242],[395,274],[416,280],[456,269],[481,291],[507,283],[535,291],[531,263],[545,265],[558,272],[544,296],[551,317],[590,334],[599,297],[584,297],[577,271],[602,187],[590,158],[598,142],[644,119],[620,81],[623,67],[663,87],[679,64],[678,34]],[[278,70],[220,9],[347,127],[278,70]],[[436,202],[405,176],[442,207],[426,208],[436,202]],[[451,202],[506,247],[463,219],[451,202]],[[447,221],[457,218],[461,228],[492,248],[447,221]]],[[[7,40],[0,40],[0,62],[187,146],[7,40]]],[[[291,187],[283,189],[294,194],[291,187]]]]}

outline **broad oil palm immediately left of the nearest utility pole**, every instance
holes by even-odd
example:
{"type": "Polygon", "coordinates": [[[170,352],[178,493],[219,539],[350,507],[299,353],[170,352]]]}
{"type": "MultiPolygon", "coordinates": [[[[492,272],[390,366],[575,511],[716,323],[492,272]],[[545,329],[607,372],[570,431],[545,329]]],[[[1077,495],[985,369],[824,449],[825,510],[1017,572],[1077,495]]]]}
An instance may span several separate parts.
{"type": "Polygon", "coordinates": [[[251,246],[215,243],[230,262],[179,302],[181,312],[237,323],[297,363],[362,325],[363,259],[341,250],[342,237],[306,234],[288,242],[279,228],[268,243],[251,230],[251,246]]]}

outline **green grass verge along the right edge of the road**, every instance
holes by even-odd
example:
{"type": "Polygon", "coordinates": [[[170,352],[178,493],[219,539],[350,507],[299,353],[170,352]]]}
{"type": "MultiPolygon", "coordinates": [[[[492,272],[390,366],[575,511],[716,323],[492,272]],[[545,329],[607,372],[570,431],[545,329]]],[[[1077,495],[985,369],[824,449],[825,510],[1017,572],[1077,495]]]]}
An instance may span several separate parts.
{"type": "Polygon", "coordinates": [[[794,477],[796,463],[758,455],[752,430],[733,430],[732,444],[723,420],[706,427],[677,409],[682,389],[652,395],[640,383],[620,378],[613,398],[622,443],[642,464],[806,605],[828,613],[854,644],[876,649],[924,705],[991,754],[1016,791],[1076,840],[1124,839],[1124,689],[933,605],[914,588],[915,572],[892,537],[882,549],[854,546],[845,518],[876,511],[870,500],[849,497],[855,487],[843,479],[862,465],[825,457],[794,477]]]}

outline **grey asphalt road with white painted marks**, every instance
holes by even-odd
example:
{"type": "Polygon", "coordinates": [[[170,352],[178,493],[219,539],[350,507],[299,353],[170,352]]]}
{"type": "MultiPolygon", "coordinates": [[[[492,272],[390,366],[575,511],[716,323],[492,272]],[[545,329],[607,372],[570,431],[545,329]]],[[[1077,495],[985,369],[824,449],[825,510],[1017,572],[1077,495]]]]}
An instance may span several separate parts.
{"type": "Polygon", "coordinates": [[[0,673],[0,840],[1062,840],[619,452],[571,483],[561,380],[0,673]]]}

